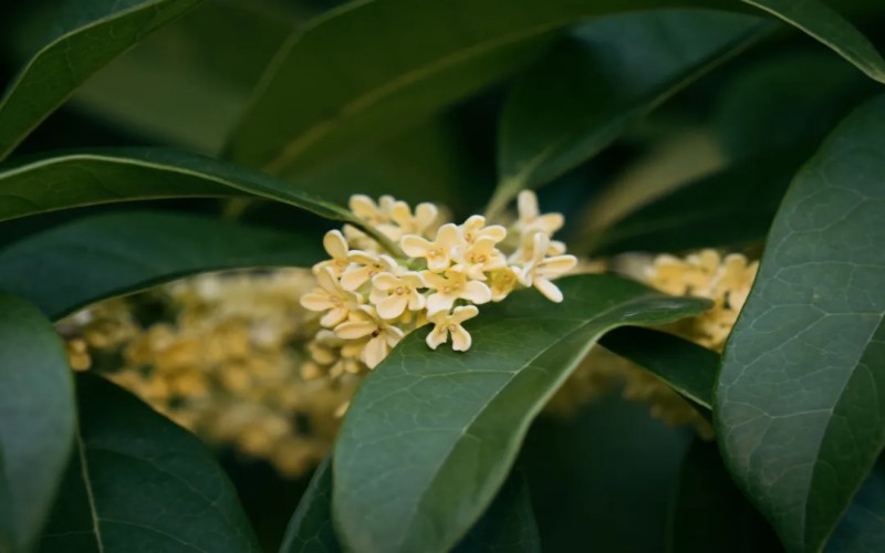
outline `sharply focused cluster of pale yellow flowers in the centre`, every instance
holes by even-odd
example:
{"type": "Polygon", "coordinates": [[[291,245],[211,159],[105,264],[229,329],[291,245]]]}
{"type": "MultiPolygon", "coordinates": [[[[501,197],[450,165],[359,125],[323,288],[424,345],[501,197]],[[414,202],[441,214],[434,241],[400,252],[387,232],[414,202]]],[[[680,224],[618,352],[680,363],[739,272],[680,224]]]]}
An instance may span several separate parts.
{"type": "Polygon", "coordinates": [[[461,225],[444,222],[433,204],[413,209],[383,196],[376,204],[353,196],[350,208],[363,221],[397,244],[399,251],[345,226],[326,233],[329,260],[314,265],[319,286],[301,304],[323,313],[329,332],[317,340],[336,348],[341,358],[374,368],[409,332],[433,324],[427,345],[436,349],[470,348],[462,323],[479,314],[477,305],[498,302],[518,288],[534,286],[554,302],[562,292],[553,279],[577,260],[552,240],[563,225],[560,213],[541,215],[538,198],[523,191],[519,218],[509,227],[472,216],[461,225]]]}

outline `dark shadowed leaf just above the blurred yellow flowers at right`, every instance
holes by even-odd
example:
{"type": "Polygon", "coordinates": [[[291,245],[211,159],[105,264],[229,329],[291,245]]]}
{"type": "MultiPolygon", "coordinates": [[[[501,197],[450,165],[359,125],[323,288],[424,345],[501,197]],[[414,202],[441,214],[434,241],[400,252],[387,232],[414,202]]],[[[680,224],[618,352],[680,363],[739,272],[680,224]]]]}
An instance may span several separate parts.
{"type": "Polygon", "coordinates": [[[740,159],[629,212],[587,238],[587,251],[677,252],[764,238],[808,149],[740,159]]]}

